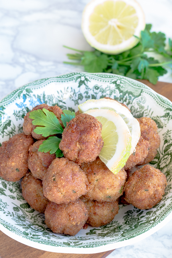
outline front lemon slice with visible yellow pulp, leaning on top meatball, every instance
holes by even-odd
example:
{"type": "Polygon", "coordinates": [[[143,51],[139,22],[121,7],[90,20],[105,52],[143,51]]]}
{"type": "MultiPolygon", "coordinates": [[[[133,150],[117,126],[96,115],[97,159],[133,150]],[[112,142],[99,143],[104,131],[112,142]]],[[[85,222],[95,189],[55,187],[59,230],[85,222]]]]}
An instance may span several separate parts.
{"type": "Polygon", "coordinates": [[[131,149],[131,134],[120,115],[112,110],[88,110],[85,112],[101,122],[104,141],[99,158],[114,174],[125,165],[131,149]]]}

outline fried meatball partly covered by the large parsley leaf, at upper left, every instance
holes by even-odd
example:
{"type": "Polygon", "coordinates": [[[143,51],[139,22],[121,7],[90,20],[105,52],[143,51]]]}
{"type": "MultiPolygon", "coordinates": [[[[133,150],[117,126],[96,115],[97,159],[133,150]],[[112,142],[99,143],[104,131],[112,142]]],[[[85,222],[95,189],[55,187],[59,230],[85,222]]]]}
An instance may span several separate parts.
{"type": "MultiPolygon", "coordinates": [[[[40,104],[37,105],[36,107],[34,107],[31,111],[33,110],[38,110],[38,109],[47,109],[50,112],[53,112],[54,115],[56,116],[56,118],[58,119],[58,121],[60,122],[61,126],[63,126],[62,121],[61,121],[61,114],[62,114],[62,110],[60,107],[58,106],[48,106],[46,104],[40,104]]],[[[30,111],[30,112],[31,112],[30,111]]],[[[36,134],[34,132],[34,129],[36,128],[36,125],[32,124],[33,119],[29,118],[30,112],[28,112],[26,114],[26,116],[24,116],[24,123],[23,123],[23,131],[26,135],[32,135],[33,138],[37,139],[37,140],[42,140],[42,139],[46,139],[47,137],[43,137],[42,134],[36,134]]]]}

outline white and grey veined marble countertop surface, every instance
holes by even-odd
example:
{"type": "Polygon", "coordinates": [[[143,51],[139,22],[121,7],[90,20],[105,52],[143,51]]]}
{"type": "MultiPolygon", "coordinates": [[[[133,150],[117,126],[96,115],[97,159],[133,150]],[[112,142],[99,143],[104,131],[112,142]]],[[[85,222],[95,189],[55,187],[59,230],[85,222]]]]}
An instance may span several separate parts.
{"type": "MultiPolygon", "coordinates": [[[[137,0],[146,23],[172,38],[172,0],[137,0]]],[[[81,31],[81,16],[89,0],[0,1],[0,99],[31,81],[82,67],[63,64],[67,45],[91,50],[81,31]]],[[[172,72],[159,78],[172,82],[172,72]]],[[[116,249],[108,258],[172,257],[172,221],[141,242],[116,249]]]]}

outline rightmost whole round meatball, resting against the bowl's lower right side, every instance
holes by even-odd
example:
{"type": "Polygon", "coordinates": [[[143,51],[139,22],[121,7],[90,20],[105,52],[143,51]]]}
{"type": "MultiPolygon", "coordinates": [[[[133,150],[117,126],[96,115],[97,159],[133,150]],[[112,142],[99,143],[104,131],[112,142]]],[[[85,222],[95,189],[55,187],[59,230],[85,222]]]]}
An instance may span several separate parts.
{"type": "Polygon", "coordinates": [[[134,172],[125,184],[125,200],[140,210],[150,209],[161,201],[167,179],[159,170],[145,165],[134,172]]]}

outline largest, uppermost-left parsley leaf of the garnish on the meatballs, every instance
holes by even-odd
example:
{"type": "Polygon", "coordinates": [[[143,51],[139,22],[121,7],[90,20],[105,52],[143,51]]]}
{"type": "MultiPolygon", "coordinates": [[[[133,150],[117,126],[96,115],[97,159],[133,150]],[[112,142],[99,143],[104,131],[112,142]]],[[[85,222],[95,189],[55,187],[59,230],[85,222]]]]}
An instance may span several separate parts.
{"type": "Polygon", "coordinates": [[[45,108],[30,112],[29,118],[33,119],[32,124],[39,125],[34,129],[36,134],[42,134],[42,136],[47,137],[52,134],[62,134],[63,132],[63,128],[54,113],[45,108]]]}

